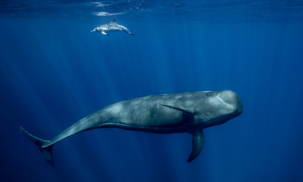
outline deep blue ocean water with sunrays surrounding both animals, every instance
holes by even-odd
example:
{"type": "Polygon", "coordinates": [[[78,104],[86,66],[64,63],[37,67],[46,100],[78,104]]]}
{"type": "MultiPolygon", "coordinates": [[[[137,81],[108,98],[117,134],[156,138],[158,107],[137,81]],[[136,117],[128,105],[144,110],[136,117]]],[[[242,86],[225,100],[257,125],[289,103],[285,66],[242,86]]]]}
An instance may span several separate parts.
{"type": "Polygon", "coordinates": [[[302,1],[1,1],[1,181],[302,181],[302,1]],[[116,19],[130,32],[91,32],[116,19]],[[243,113],[191,134],[90,130],[135,97],[233,90],[243,113]]]}

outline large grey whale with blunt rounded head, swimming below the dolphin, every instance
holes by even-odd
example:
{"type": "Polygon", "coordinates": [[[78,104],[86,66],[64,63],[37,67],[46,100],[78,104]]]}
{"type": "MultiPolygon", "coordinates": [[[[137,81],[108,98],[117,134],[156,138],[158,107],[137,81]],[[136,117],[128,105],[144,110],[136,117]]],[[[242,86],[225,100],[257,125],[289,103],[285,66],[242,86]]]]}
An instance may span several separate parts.
{"type": "Polygon", "coordinates": [[[43,158],[53,167],[52,146],[69,136],[97,128],[120,128],[150,133],[190,133],[192,151],[187,160],[200,153],[202,130],[239,116],[243,106],[231,90],[162,94],[121,101],[92,113],[52,140],[37,138],[20,126],[21,133],[38,146],[43,158]]]}

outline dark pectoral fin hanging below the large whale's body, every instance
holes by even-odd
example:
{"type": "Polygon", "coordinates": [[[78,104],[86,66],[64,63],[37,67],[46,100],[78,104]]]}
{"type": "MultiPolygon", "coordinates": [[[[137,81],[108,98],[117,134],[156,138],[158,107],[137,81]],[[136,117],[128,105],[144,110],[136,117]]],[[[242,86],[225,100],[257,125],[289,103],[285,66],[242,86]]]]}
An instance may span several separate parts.
{"type": "Polygon", "coordinates": [[[187,162],[191,162],[199,155],[202,150],[203,144],[204,136],[202,130],[192,134],[192,151],[188,157],[187,162]]]}

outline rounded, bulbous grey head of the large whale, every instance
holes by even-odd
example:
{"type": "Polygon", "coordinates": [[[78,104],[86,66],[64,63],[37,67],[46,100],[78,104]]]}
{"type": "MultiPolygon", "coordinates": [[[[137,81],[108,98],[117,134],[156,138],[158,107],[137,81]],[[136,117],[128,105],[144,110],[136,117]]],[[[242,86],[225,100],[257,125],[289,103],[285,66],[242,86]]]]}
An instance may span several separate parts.
{"type": "Polygon", "coordinates": [[[195,123],[202,127],[223,124],[242,113],[243,105],[237,93],[231,90],[203,92],[195,109],[195,123]]]}

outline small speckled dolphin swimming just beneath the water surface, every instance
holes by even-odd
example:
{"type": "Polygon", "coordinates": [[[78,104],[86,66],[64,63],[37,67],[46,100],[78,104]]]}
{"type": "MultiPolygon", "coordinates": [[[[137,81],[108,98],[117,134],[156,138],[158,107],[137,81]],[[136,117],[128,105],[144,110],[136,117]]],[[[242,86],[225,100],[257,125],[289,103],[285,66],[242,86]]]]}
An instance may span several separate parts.
{"type": "Polygon", "coordinates": [[[109,35],[108,33],[113,33],[113,32],[126,32],[128,34],[134,35],[131,32],[129,32],[129,30],[126,27],[117,24],[116,19],[113,19],[112,22],[108,24],[104,24],[96,27],[91,32],[101,32],[104,35],[109,35]]]}

